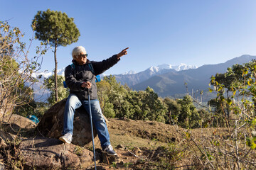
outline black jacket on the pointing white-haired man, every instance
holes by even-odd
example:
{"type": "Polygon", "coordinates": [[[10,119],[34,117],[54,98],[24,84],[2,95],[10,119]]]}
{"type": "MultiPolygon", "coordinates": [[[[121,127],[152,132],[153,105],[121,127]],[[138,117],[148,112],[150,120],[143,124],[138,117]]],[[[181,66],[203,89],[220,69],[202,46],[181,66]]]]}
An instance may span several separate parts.
{"type": "MultiPolygon", "coordinates": [[[[92,63],[92,67],[95,71],[95,75],[102,74],[107,69],[110,69],[114,64],[117,64],[119,59],[117,59],[117,55],[113,55],[107,60],[103,60],[102,62],[94,62],[87,60],[87,63],[92,63]]],[[[82,88],[82,83],[86,81],[90,81],[92,83],[92,87],[89,89],[90,99],[97,99],[97,86],[95,83],[95,76],[92,74],[92,69],[90,69],[89,65],[83,64],[79,65],[75,60],[72,61],[75,68],[68,65],[65,68],[65,82],[70,89],[70,93],[78,96],[80,100],[88,100],[87,89],[82,88]]]]}

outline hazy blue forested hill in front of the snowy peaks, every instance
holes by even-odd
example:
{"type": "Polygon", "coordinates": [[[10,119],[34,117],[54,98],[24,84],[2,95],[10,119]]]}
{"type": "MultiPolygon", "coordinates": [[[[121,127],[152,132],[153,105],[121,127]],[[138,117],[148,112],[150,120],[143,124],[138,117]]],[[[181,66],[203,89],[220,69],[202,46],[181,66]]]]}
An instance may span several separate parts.
{"type": "Polygon", "coordinates": [[[179,72],[166,72],[164,74],[155,75],[139,84],[134,84],[132,89],[145,90],[147,86],[154,89],[159,96],[175,96],[177,94],[186,94],[187,90],[191,94],[203,90],[204,93],[208,91],[208,84],[210,77],[216,73],[225,73],[228,67],[233,64],[242,64],[250,62],[256,56],[242,55],[225,63],[220,64],[206,64],[197,69],[187,69],[179,72]],[[185,86],[187,84],[187,89],[185,86]],[[193,90],[192,90],[193,89],[193,90]]]}

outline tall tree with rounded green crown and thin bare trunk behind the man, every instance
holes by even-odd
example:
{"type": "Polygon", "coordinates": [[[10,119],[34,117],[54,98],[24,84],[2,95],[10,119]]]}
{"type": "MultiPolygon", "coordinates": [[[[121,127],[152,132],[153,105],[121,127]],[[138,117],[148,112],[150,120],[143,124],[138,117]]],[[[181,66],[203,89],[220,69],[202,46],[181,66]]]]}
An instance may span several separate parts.
{"type": "Polygon", "coordinates": [[[36,31],[36,38],[38,40],[47,42],[54,47],[55,101],[58,101],[57,47],[77,42],[80,32],[75,26],[74,18],[68,18],[66,13],[50,11],[50,9],[47,11],[38,11],[31,26],[36,31]]]}

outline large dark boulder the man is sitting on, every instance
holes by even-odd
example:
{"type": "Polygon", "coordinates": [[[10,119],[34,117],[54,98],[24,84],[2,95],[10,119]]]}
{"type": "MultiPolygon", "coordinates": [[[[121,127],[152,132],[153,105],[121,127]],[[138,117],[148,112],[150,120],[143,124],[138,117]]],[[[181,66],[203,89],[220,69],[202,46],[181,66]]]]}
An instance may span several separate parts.
{"type": "MultiPolygon", "coordinates": [[[[43,115],[43,118],[41,118],[37,126],[41,135],[57,139],[62,135],[66,101],[67,98],[56,103],[43,115]]],[[[92,141],[90,118],[83,107],[75,111],[73,125],[72,143],[74,145],[85,146],[92,141]]],[[[96,135],[97,132],[94,130],[94,137],[96,137],[96,135]]],[[[96,138],[95,143],[99,144],[98,138],[96,138]]]]}

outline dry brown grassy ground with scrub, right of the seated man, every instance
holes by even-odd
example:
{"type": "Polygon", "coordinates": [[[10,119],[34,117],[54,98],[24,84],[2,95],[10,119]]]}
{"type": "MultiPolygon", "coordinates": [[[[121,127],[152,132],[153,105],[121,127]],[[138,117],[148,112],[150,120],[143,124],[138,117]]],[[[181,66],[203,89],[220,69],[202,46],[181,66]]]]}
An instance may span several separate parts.
{"type": "MultiPolygon", "coordinates": [[[[100,141],[95,137],[98,170],[237,169],[237,157],[245,169],[256,167],[256,150],[246,147],[245,133],[249,133],[243,126],[237,132],[238,144],[235,143],[238,138],[234,128],[183,129],[176,125],[129,119],[109,119],[107,127],[117,156],[103,154],[100,141]]],[[[85,148],[92,150],[92,142],[85,148]]],[[[95,167],[92,165],[87,169],[95,167]]]]}

